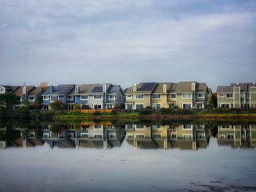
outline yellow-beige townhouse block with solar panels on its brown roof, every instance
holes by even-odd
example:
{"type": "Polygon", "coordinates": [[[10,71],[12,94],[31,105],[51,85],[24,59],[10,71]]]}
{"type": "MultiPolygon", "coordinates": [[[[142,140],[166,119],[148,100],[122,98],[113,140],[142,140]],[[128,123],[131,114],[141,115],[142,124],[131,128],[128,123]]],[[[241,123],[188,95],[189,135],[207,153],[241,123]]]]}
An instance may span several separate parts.
{"type": "Polygon", "coordinates": [[[204,82],[140,82],[125,91],[125,109],[204,108],[210,94],[204,82]]]}

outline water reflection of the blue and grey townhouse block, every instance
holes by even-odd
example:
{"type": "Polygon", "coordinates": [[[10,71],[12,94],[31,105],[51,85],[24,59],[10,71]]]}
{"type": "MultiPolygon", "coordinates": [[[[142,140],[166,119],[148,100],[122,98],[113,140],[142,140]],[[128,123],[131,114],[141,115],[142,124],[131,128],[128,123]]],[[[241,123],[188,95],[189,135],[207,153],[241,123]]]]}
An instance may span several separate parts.
{"type": "Polygon", "coordinates": [[[124,128],[106,125],[68,126],[59,133],[44,129],[43,139],[50,147],[120,147],[125,136],[124,128]]]}

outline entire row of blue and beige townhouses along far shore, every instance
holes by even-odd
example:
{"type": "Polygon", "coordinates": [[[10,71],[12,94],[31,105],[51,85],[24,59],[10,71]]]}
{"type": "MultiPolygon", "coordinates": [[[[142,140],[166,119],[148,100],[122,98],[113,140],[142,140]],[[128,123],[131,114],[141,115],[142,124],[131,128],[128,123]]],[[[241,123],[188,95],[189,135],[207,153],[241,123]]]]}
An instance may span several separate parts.
{"type": "MultiPolygon", "coordinates": [[[[31,85],[0,85],[0,93],[13,93],[20,101],[34,103],[43,97],[42,108],[49,109],[50,103],[61,101],[68,109],[75,104],[88,109],[113,109],[125,105],[126,110],[169,108],[205,108],[211,98],[211,88],[205,82],[140,82],[125,91],[120,85],[65,84],[51,85],[46,90],[31,85]]],[[[256,108],[255,83],[231,83],[217,87],[217,106],[226,108],[256,108]]]]}

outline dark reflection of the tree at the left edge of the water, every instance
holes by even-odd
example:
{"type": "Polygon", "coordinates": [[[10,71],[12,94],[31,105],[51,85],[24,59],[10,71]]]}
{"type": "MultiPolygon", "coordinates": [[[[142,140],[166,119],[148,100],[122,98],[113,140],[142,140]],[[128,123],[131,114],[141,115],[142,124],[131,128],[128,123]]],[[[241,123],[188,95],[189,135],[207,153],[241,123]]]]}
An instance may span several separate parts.
{"type": "Polygon", "coordinates": [[[6,141],[7,144],[20,138],[20,131],[14,128],[4,128],[0,130],[0,140],[6,141]]]}

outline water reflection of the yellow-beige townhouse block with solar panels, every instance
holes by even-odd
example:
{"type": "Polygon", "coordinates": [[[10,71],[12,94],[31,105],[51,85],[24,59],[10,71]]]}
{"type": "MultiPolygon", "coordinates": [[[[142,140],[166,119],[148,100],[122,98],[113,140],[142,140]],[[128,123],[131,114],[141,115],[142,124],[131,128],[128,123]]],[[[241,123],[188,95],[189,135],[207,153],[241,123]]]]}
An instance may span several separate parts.
{"type": "Polygon", "coordinates": [[[126,125],[127,142],[135,148],[179,148],[197,150],[208,146],[208,134],[204,125],[179,126],[126,125]]]}

